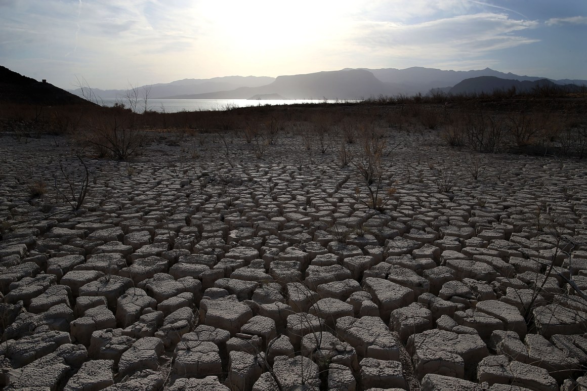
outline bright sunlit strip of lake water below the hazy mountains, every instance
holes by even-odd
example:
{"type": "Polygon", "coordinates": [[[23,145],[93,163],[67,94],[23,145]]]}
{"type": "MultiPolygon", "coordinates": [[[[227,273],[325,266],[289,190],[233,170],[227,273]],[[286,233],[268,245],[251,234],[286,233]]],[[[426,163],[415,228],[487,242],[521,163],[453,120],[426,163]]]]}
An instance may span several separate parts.
{"type": "MultiPolygon", "coordinates": [[[[106,106],[113,106],[120,99],[103,99],[106,106]]],[[[127,102],[122,102],[128,107],[127,102]]],[[[338,100],[338,99],[149,99],[149,110],[156,112],[177,113],[182,111],[210,111],[210,110],[227,110],[236,107],[265,106],[265,105],[296,105],[300,103],[342,103],[342,102],[359,102],[358,100],[338,100]]],[[[142,112],[144,104],[139,102],[137,111],[142,112]]]]}

